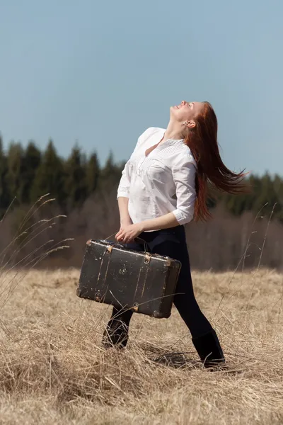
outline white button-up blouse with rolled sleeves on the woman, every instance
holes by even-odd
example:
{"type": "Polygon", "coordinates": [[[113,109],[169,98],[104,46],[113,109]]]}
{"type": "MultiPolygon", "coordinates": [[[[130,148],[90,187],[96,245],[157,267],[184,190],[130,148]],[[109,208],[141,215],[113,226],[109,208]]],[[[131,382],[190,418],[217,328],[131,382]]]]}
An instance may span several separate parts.
{"type": "Polygon", "coordinates": [[[117,198],[129,198],[133,223],[173,212],[184,225],[194,215],[197,165],[184,140],[165,140],[145,154],[146,149],[160,142],[165,131],[148,128],[122,171],[117,198]]]}

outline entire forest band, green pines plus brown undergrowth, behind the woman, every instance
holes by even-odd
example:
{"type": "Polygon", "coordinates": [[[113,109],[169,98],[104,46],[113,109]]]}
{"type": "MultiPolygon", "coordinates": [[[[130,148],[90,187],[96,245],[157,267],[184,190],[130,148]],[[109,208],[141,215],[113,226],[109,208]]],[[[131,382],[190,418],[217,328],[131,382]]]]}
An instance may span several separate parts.
{"type": "MultiPolygon", "coordinates": [[[[0,140],[0,265],[80,267],[86,240],[119,229],[116,194],[123,166],[111,153],[101,166],[96,152],[86,155],[78,146],[64,159],[52,141],[42,152],[34,142],[11,143],[5,151],[0,140]],[[62,243],[69,249],[57,251],[62,243]]],[[[216,193],[209,199],[213,220],[187,226],[192,268],[282,269],[283,179],[251,175],[247,185],[250,193],[216,193]]]]}

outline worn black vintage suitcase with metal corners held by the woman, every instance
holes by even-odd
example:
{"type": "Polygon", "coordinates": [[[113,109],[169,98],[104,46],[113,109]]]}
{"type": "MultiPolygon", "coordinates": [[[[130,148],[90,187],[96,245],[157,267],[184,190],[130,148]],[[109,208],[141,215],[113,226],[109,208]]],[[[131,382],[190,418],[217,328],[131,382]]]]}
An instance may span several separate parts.
{"type": "Polygon", "coordinates": [[[171,315],[180,261],[90,240],[76,295],[149,316],[171,315]]]}

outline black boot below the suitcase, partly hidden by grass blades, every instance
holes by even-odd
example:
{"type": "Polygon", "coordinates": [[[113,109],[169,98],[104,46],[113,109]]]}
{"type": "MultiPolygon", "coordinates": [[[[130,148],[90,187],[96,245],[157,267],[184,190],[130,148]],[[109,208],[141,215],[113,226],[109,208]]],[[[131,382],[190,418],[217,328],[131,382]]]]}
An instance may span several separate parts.
{"type": "Polygon", "coordinates": [[[103,333],[105,348],[125,348],[129,339],[129,327],[121,319],[111,319],[103,333]]]}

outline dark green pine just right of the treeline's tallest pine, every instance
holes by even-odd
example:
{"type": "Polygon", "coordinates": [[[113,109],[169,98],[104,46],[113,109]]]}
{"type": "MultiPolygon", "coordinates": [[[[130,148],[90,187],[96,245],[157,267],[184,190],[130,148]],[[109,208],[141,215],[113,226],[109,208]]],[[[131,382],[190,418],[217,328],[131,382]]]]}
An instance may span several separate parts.
{"type": "Polygon", "coordinates": [[[86,158],[81,149],[75,146],[65,164],[65,190],[68,193],[70,208],[79,207],[86,200],[86,158]]]}

